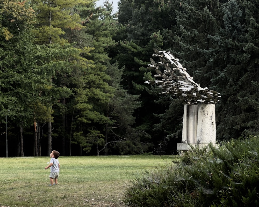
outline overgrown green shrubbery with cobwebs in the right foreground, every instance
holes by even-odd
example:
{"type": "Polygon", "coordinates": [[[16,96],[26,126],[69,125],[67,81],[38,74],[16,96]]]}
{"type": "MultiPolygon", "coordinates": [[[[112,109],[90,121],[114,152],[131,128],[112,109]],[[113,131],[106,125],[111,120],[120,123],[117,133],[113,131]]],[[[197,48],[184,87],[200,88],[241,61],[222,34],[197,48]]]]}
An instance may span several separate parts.
{"type": "Polygon", "coordinates": [[[177,161],[136,176],[128,206],[259,206],[259,140],[193,147],[177,161]]]}

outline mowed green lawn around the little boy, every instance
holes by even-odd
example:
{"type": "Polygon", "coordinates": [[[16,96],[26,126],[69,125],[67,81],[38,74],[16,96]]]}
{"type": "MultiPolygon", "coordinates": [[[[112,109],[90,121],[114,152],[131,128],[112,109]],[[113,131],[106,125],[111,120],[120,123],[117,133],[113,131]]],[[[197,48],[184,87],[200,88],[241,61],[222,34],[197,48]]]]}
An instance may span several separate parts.
{"type": "Polygon", "coordinates": [[[49,187],[49,157],[0,159],[0,206],[125,206],[124,191],[142,171],[175,156],[59,157],[57,186],[49,187]]]}

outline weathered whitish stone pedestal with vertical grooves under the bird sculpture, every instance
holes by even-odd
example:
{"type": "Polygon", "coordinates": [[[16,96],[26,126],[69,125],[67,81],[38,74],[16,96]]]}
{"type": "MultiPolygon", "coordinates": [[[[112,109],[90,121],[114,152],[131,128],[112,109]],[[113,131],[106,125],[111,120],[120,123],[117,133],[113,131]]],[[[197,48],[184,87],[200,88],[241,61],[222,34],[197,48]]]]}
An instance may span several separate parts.
{"type": "Polygon", "coordinates": [[[182,143],[177,144],[177,150],[208,143],[216,143],[215,105],[184,105],[182,143]]]}

